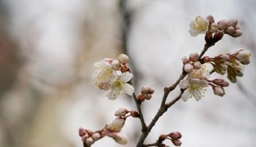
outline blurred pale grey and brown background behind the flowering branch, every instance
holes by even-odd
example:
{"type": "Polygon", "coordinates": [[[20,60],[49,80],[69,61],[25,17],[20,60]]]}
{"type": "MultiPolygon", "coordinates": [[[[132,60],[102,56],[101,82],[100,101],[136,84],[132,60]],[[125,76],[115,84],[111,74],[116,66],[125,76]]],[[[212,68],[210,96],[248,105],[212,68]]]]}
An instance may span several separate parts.
{"type": "MultiPolygon", "coordinates": [[[[209,88],[199,102],[178,101],[145,142],[180,131],[182,146],[255,146],[255,8],[253,0],[0,0],[0,146],[82,146],[80,126],[97,130],[116,109],[136,109],[129,98],[108,100],[91,79],[95,61],[119,53],[130,56],[137,92],[155,87],[154,97],[143,103],[148,124],[163,87],[182,72],[180,58],[202,50],[204,36],[190,36],[190,21],[208,14],[216,21],[239,19],[243,35],[225,35],[207,55],[244,47],[252,53],[251,64],[225,97],[209,88]]],[[[126,146],[136,145],[139,130],[138,119],[126,121],[126,146]]],[[[122,145],[104,138],[94,146],[122,145]]]]}

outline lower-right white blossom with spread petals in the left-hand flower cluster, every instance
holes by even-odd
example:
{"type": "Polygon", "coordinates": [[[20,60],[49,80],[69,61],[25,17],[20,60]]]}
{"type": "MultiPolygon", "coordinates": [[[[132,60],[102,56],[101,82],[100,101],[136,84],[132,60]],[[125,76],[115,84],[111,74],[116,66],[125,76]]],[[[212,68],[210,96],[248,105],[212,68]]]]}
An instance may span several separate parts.
{"type": "Polygon", "coordinates": [[[120,94],[122,94],[123,97],[127,97],[127,95],[133,95],[134,87],[127,83],[131,80],[131,78],[133,78],[133,74],[130,72],[116,72],[114,75],[114,78],[109,82],[109,100],[115,100],[120,94]]]}

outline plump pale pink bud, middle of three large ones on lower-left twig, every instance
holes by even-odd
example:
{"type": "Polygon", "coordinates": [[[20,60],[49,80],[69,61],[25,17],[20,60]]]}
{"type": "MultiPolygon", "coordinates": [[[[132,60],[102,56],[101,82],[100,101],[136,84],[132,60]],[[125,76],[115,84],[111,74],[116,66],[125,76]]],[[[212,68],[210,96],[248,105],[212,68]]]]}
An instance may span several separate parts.
{"type": "Polygon", "coordinates": [[[112,122],[106,124],[105,128],[111,131],[120,131],[125,126],[125,118],[116,117],[112,122]]]}

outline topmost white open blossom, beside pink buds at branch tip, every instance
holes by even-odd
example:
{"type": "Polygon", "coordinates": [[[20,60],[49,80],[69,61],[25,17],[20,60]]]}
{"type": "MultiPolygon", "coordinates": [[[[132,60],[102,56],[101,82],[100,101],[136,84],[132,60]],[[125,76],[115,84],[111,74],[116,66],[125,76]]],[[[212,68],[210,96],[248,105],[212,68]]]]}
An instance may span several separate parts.
{"type": "Polygon", "coordinates": [[[209,21],[204,17],[195,17],[195,20],[190,23],[190,35],[197,36],[198,34],[205,34],[208,31],[208,25],[209,21]]]}

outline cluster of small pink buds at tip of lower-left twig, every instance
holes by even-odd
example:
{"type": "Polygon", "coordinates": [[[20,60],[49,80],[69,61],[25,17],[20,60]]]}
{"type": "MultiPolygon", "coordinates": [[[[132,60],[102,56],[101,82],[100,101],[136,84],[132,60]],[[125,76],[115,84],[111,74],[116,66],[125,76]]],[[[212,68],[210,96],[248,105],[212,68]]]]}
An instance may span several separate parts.
{"type": "Polygon", "coordinates": [[[79,128],[79,136],[81,137],[81,140],[83,141],[84,147],[91,146],[98,139],[105,137],[105,135],[106,135],[106,133],[104,130],[99,130],[99,131],[93,132],[91,130],[86,130],[85,128],[82,128],[82,127],[79,128]]]}

